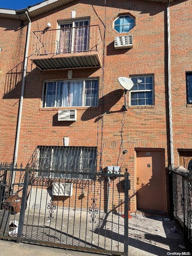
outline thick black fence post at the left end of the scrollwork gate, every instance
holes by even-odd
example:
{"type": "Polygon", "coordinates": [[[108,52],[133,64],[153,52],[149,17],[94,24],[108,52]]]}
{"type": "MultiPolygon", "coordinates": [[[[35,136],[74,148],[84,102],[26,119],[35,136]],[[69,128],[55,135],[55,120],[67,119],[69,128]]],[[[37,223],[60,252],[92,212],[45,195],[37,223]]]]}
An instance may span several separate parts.
{"type": "Polygon", "coordinates": [[[19,215],[19,226],[18,226],[18,234],[17,234],[17,243],[20,243],[20,239],[22,237],[23,232],[23,224],[24,224],[24,217],[25,217],[25,210],[26,210],[26,200],[27,200],[27,190],[29,185],[29,164],[27,164],[25,168],[25,179],[23,185],[23,193],[22,193],[22,201],[21,201],[21,209],[19,215]]]}

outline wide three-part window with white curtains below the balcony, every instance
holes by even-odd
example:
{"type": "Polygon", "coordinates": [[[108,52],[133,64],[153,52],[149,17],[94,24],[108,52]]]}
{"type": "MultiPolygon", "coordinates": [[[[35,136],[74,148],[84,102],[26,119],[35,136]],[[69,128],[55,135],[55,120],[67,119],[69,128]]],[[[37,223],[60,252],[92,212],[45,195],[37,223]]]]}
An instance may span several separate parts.
{"type": "Polygon", "coordinates": [[[43,107],[98,105],[98,79],[44,82],[43,107]]]}

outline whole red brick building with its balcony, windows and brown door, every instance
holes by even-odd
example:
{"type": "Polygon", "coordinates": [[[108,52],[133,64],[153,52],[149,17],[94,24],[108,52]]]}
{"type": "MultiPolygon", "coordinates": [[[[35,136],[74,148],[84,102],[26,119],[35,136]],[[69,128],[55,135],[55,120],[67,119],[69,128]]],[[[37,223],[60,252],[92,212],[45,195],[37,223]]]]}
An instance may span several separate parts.
{"type": "Polygon", "coordinates": [[[128,168],[132,211],[169,212],[166,167],[192,165],[191,25],[190,0],[0,9],[0,160],[86,149],[97,171],[128,168]],[[134,83],[127,110],[119,77],[134,83]]]}

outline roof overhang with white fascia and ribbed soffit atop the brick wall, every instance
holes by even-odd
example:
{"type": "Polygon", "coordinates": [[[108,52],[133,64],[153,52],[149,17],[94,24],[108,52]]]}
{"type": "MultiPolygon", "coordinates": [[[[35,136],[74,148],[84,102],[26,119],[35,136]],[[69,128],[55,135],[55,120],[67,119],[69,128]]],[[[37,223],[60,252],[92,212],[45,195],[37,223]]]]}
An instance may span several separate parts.
{"type": "MultiPolygon", "coordinates": [[[[62,5],[66,5],[70,2],[74,2],[75,0],[49,0],[41,2],[39,4],[28,6],[28,15],[30,18],[38,16],[40,14],[46,13],[47,11],[51,11],[55,8],[61,7],[62,5]],[[48,2],[48,4],[47,4],[48,2]]],[[[168,0],[148,0],[152,2],[160,2],[160,3],[167,3],[168,0]]],[[[170,0],[173,2],[174,0],[170,0]]],[[[10,9],[1,9],[0,8],[0,17],[10,18],[10,19],[19,19],[19,20],[28,20],[25,11],[26,9],[21,10],[10,10],[10,9]],[[22,13],[23,11],[23,13],[22,13]],[[19,13],[20,12],[20,13],[19,13]]]]}

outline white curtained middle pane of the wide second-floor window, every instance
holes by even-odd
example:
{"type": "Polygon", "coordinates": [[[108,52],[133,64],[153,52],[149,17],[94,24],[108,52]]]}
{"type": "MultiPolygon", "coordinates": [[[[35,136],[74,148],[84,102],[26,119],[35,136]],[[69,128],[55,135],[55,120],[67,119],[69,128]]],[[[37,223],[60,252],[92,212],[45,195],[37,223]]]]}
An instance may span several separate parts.
{"type": "Polygon", "coordinates": [[[83,81],[58,82],[57,107],[82,106],[83,81]]]}

